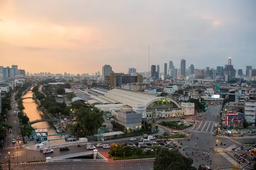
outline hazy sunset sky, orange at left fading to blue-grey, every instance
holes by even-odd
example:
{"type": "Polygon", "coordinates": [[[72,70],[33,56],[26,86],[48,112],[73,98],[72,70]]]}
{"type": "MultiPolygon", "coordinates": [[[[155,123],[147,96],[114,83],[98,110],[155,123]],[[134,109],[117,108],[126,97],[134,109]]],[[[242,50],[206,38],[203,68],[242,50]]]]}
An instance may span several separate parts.
{"type": "MultiPolygon", "coordinates": [[[[256,63],[255,0],[0,0],[0,65],[30,73],[256,63]],[[169,64],[168,64],[169,65],[169,64]]],[[[256,65],[253,65],[256,68],[256,65]]]]}

